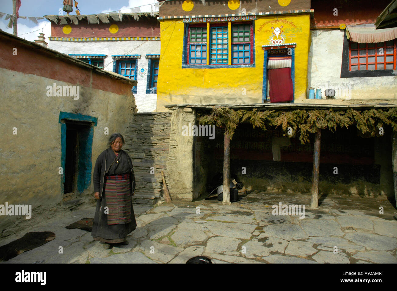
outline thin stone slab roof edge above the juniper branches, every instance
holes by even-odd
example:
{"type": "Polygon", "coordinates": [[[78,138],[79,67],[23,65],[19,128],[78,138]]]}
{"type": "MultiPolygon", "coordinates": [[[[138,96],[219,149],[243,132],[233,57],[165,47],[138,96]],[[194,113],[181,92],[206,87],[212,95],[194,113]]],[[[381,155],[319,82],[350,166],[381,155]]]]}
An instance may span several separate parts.
{"type": "Polygon", "coordinates": [[[360,108],[360,107],[376,107],[376,108],[387,108],[397,107],[397,103],[366,103],[366,104],[350,104],[350,105],[337,105],[337,104],[310,104],[310,103],[251,103],[251,104],[170,104],[164,105],[164,107],[175,110],[177,108],[197,108],[197,109],[212,109],[213,107],[228,107],[231,109],[287,109],[287,108],[318,108],[318,109],[349,109],[349,108],[360,108]]]}

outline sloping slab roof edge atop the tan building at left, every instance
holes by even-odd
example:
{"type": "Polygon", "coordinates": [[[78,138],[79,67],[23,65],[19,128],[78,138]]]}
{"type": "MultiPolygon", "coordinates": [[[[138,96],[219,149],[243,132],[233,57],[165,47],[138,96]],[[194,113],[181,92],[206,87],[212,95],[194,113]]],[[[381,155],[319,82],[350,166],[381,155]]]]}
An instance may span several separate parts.
{"type": "Polygon", "coordinates": [[[4,38],[14,39],[14,40],[16,40],[18,42],[21,42],[25,46],[30,46],[30,47],[33,47],[35,49],[41,50],[42,52],[45,52],[47,54],[53,55],[54,57],[59,57],[60,59],[63,59],[64,61],[67,61],[69,63],[73,63],[73,64],[75,64],[75,65],[77,65],[79,67],[84,67],[86,69],[91,69],[92,71],[94,71],[97,74],[104,74],[104,75],[107,75],[108,77],[119,79],[119,80],[121,80],[123,82],[128,82],[128,83],[130,83],[130,84],[132,84],[134,86],[137,85],[137,83],[138,83],[135,80],[131,80],[130,78],[126,78],[126,77],[124,77],[122,75],[119,75],[117,73],[113,73],[113,72],[110,72],[110,71],[105,71],[105,70],[99,69],[98,67],[95,67],[94,65],[89,65],[89,64],[87,64],[87,63],[85,63],[85,62],[83,62],[83,61],[81,61],[81,60],[79,60],[79,59],[77,59],[75,57],[68,56],[67,54],[62,54],[61,52],[58,52],[56,50],[52,50],[50,48],[45,48],[44,46],[42,46],[40,44],[37,44],[35,42],[31,42],[29,40],[25,40],[23,38],[20,38],[18,36],[15,36],[13,34],[6,33],[5,31],[0,30],[0,39],[3,38],[3,37],[4,38]]]}

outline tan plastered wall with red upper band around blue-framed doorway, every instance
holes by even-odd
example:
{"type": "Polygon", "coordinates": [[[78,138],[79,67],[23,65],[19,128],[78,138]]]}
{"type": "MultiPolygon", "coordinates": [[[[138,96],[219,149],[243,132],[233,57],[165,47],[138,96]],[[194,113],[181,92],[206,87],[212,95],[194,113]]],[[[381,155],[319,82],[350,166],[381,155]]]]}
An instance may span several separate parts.
{"type": "MultiPolygon", "coordinates": [[[[5,141],[0,145],[0,203],[31,205],[34,223],[48,209],[59,207],[64,194],[60,167],[66,137],[60,113],[97,121],[91,149],[85,149],[92,153],[85,169],[87,187],[77,193],[79,198],[92,197],[93,167],[109,138],[104,129],[109,134],[125,132],[135,110],[134,83],[73,58],[55,57],[56,52],[4,32],[0,32],[0,44],[0,134],[5,141]],[[79,88],[78,98],[48,94],[54,84],[79,88]]],[[[24,220],[23,216],[1,216],[1,236],[12,234],[24,220]]]]}

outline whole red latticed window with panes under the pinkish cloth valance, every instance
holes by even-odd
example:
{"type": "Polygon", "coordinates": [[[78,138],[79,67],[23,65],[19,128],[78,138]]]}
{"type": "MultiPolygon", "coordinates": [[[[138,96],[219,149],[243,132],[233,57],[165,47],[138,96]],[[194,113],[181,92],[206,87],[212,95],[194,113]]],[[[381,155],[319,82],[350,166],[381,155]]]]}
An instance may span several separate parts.
{"type": "Polygon", "coordinates": [[[369,44],[349,42],[349,71],[395,69],[396,40],[369,44]]]}

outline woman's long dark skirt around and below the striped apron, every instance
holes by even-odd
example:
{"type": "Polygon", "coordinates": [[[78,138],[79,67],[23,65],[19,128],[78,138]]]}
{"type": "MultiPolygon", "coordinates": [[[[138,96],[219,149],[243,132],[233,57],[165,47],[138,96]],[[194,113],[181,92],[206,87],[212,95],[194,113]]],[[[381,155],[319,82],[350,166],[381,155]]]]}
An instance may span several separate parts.
{"type": "MultiPolygon", "coordinates": [[[[105,185],[106,189],[106,185],[105,185]]],[[[127,234],[135,230],[137,227],[137,222],[135,220],[134,209],[132,206],[131,195],[131,222],[126,224],[108,224],[108,214],[105,214],[105,207],[109,205],[106,204],[106,191],[102,193],[102,201],[98,199],[96,201],[95,216],[93,222],[93,231],[91,235],[97,241],[102,241],[105,243],[122,243],[127,239],[127,234]]]]}

